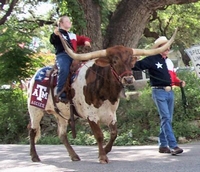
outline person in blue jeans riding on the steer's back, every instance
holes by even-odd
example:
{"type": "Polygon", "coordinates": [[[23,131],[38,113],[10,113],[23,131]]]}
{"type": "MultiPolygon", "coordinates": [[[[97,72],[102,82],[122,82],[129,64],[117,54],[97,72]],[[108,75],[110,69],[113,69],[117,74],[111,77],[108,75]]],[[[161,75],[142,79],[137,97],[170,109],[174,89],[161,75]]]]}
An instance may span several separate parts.
{"type": "Polygon", "coordinates": [[[69,32],[72,27],[72,23],[68,16],[62,16],[58,22],[58,27],[50,36],[50,42],[55,48],[56,65],[58,67],[58,82],[57,82],[57,95],[55,96],[56,102],[68,102],[66,92],[63,90],[65,82],[67,80],[70,66],[73,59],[65,52],[62,42],[59,37],[59,32],[62,37],[67,41],[67,44],[73,51],[77,51],[77,46],[89,46],[91,47],[91,40],[86,36],[79,36],[72,32],[69,32]]]}

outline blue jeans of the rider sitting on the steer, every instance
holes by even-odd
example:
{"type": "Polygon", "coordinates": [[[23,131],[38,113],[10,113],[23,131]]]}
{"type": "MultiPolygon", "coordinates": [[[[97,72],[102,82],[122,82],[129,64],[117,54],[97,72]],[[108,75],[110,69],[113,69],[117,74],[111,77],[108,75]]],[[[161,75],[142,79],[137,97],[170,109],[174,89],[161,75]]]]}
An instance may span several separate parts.
{"type": "Polygon", "coordinates": [[[59,93],[64,87],[72,61],[73,59],[65,52],[56,55],[56,64],[58,67],[57,93],[59,93]]]}

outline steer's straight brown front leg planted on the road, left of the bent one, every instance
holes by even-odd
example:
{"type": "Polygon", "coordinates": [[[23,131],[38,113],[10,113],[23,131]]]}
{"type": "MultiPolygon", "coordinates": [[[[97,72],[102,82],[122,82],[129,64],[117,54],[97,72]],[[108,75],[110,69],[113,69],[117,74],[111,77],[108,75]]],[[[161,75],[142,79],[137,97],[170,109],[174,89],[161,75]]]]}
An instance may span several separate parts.
{"type": "Polygon", "coordinates": [[[99,124],[97,124],[93,121],[90,121],[89,119],[88,119],[88,122],[93,131],[94,137],[97,141],[97,145],[99,148],[99,162],[101,164],[106,164],[109,162],[109,160],[108,160],[105,150],[103,149],[103,133],[101,131],[101,128],[100,128],[99,124]]]}

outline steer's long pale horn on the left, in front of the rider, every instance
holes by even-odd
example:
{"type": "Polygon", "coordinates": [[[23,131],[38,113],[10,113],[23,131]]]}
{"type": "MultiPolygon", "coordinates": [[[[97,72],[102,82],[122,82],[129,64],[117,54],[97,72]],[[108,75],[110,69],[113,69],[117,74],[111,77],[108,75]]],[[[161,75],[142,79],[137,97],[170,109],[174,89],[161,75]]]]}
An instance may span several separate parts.
{"type": "Polygon", "coordinates": [[[63,47],[66,51],[66,53],[71,57],[73,58],[74,60],[91,60],[91,59],[96,59],[96,58],[99,58],[99,57],[106,57],[106,50],[99,50],[99,51],[94,51],[94,52],[90,52],[90,53],[84,53],[84,54],[77,54],[77,53],[74,53],[72,49],[70,49],[64,38],[62,37],[61,33],[58,32],[58,35],[60,37],[60,40],[63,44],[63,47]]]}

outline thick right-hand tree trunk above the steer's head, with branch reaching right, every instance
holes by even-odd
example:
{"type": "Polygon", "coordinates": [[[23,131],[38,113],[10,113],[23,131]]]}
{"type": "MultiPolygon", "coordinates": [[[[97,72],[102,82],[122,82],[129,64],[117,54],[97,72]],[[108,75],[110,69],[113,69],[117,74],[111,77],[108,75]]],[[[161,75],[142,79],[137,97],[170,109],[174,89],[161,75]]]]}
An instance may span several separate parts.
{"type": "Polygon", "coordinates": [[[153,11],[171,4],[197,2],[198,0],[122,0],[107,28],[104,47],[125,45],[137,47],[137,44],[149,22],[153,11]]]}

